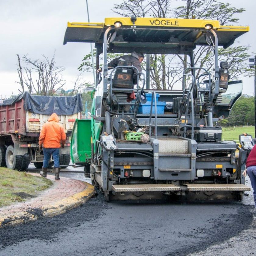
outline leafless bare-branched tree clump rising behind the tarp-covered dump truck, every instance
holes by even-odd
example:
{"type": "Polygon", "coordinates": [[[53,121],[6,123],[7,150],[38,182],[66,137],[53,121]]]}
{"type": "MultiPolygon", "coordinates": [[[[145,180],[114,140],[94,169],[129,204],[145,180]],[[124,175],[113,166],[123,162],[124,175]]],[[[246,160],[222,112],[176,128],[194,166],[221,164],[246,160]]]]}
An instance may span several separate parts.
{"type": "MultiPolygon", "coordinates": [[[[18,57],[18,74],[20,82],[17,82],[22,87],[22,92],[25,91],[25,86],[31,94],[37,95],[53,95],[55,91],[62,88],[66,82],[62,77],[64,67],[55,66],[55,52],[51,59],[42,55],[43,59],[32,60],[23,56],[23,61],[27,64],[24,68],[25,74],[22,73],[20,57],[18,57]]],[[[20,91],[20,90],[19,90],[20,91]]]]}

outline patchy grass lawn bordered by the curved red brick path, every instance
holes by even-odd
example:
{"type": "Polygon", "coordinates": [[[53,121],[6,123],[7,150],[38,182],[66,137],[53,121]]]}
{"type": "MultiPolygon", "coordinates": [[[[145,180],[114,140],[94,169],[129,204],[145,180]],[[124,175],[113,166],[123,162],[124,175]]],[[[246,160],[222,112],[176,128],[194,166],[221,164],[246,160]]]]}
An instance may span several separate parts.
{"type": "Polygon", "coordinates": [[[43,177],[0,167],[0,207],[26,201],[52,184],[43,177]]]}

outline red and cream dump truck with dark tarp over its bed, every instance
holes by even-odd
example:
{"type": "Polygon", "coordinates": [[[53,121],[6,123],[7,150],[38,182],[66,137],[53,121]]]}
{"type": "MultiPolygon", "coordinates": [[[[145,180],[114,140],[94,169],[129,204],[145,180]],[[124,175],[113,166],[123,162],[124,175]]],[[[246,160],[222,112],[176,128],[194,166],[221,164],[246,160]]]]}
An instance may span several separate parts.
{"type": "MultiPolygon", "coordinates": [[[[26,170],[30,162],[36,168],[43,166],[43,151],[38,148],[42,125],[52,113],[59,116],[67,141],[60,149],[60,165],[69,165],[73,124],[81,118],[81,95],[73,97],[35,96],[24,92],[14,98],[0,101],[0,165],[19,171],[26,170]]],[[[49,166],[53,165],[53,159],[49,166]]],[[[65,168],[66,166],[64,166],[65,168]]],[[[63,167],[62,167],[63,168],[63,167]]]]}

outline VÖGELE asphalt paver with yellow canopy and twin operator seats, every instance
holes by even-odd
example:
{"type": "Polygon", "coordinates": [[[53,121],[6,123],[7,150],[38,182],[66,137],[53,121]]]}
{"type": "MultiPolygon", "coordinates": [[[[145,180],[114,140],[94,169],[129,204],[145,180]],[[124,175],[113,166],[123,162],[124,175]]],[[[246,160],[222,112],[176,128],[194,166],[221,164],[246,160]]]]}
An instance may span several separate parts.
{"type": "Polygon", "coordinates": [[[242,175],[246,150],[222,141],[222,128],[216,126],[229,116],[243,88],[241,80],[229,81],[229,63],[219,62],[218,48],[229,47],[248,31],[195,19],[118,17],[104,23],[68,23],[64,44],[95,43],[96,69],[103,55],[91,132],[77,122],[80,132],[73,133],[71,147],[75,163],[90,164],[92,183],[107,201],[241,200],[250,190],[242,175]],[[200,46],[212,52],[210,71],[194,65],[200,46]],[[134,51],[147,54],[147,79],[137,70],[135,87],[136,67],[119,64],[109,71],[107,58],[108,53],[134,51]],[[187,56],[190,64],[183,70],[180,89],[150,88],[150,54],[187,56]],[[131,91],[135,99],[128,102],[131,91]]]}

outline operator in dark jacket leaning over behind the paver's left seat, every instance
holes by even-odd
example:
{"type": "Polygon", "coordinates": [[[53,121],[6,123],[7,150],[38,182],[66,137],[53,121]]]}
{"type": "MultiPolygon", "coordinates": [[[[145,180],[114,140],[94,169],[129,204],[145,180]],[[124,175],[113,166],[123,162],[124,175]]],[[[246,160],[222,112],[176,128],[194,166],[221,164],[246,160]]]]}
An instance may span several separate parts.
{"type": "MultiPolygon", "coordinates": [[[[131,62],[131,65],[136,67],[139,72],[142,71],[141,69],[141,65],[139,62],[139,56],[137,55],[137,53],[133,52],[131,55],[123,55],[120,56],[119,58],[113,59],[111,62],[108,63],[108,69],[113,69],[116,66],[118,66],[118,62],[119,61],[126,61],[126,62],[131,62]]],[[[137,70],[134,69],[133,71],[133,84],[137,84],[137,70]]]]}

